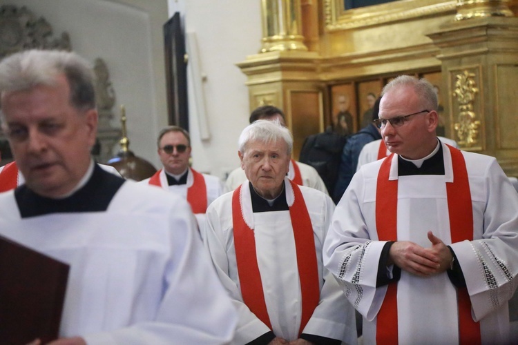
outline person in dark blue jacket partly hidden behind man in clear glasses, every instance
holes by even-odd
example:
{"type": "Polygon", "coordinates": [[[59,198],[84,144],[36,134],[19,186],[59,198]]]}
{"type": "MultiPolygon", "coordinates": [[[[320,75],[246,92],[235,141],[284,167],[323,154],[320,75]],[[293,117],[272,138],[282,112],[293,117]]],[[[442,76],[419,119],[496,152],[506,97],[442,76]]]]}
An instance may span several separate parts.
{"type": "Polygon", "coordinates": [[[342,161],[338,169],[338,179],[334,187],[333,200],[338,204],[340,198],[351,179],[356,172],[356,165],[358,164],[358,156],[361,149],[371,141],[381,139],[378,128],[374,125],[374,119],[378,118],[378,108],[380,99],[376,99],[373,106],[372,117],[369,124],[362,128],[355,135],[347,138],[345,146],[343,146],[342,161]]]}

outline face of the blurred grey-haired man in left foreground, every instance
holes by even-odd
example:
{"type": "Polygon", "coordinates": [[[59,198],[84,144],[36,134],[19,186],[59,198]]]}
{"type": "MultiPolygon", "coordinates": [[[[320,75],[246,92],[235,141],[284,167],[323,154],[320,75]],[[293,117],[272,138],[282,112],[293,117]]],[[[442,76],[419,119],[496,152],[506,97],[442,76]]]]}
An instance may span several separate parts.
{"type": "Polygon", "coordinates": [[[44,197],[70,193],[88,170],[97,111],[70,105],[64,76],[56,86],[1,95],[4,128],[27,186],[44,197]]]}

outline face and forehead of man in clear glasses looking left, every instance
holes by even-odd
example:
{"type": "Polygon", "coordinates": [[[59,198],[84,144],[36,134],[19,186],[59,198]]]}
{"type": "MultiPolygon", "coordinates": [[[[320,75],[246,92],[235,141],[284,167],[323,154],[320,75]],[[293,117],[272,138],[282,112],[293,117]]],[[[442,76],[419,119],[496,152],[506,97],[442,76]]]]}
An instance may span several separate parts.
{"type": "MultiPolygon", "coordinates": [[[[425,110],[412,87],[401,86],[385,93],[380,102],[380,119],[391,119],[425,110]]],[[[402,126],[394,127],[390,122],[381,128],[381,136],[390,152],[407,159],[421,159],[432,152],[437,145],[435,128],[437,112],[421,112],[405,119],[402,126]]]]}

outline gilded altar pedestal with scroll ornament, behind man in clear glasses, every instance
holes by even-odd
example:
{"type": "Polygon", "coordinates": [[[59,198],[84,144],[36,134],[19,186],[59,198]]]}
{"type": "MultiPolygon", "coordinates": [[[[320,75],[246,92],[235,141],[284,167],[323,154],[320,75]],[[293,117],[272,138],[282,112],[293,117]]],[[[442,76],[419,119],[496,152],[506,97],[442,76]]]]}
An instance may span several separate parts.
{"type": "Polygon", "coordinates": [[[457,15],[428,34],[439,47],[447,135],[496,157],[518,176],[518,18],[509,1],[458,0],[457,15]]]}

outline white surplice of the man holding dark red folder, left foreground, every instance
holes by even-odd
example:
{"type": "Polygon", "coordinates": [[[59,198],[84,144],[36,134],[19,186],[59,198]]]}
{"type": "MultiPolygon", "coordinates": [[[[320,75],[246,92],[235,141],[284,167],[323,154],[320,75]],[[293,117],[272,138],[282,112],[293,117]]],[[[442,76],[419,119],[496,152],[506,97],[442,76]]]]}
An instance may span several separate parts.
{"type": "Polygon", "coordinates": [[[0,193],[1,235],[70,265],[59,335],[89,345],[231,339],[236,311],[197,232],[186,201],[133,181],[103,212],[22,218],[0,193]]]}

